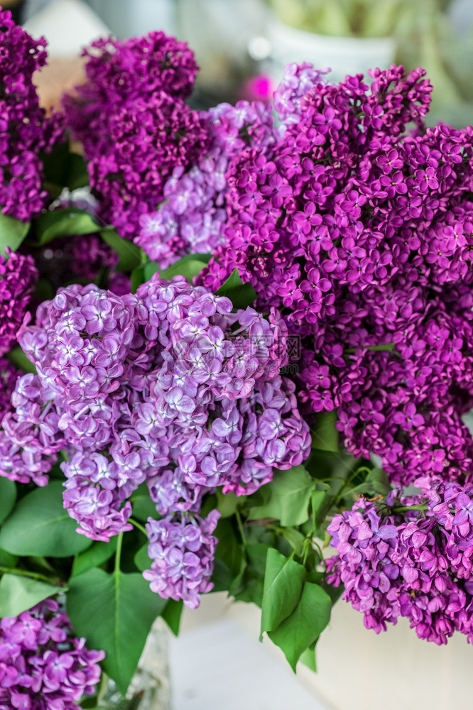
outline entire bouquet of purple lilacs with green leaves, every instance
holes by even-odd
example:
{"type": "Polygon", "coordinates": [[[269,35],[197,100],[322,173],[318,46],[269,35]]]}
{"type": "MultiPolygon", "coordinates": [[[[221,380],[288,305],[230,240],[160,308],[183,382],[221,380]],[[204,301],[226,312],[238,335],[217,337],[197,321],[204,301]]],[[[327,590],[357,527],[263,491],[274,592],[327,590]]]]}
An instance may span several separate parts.
{"type": "Polygon", "coordinates": [[[126,694],[210,591],[294,670],[340,594],[473,638],[473,130],[396,66],[196,111],[161,32],[46,115],[1,23],[0,710],[126,694]]]}

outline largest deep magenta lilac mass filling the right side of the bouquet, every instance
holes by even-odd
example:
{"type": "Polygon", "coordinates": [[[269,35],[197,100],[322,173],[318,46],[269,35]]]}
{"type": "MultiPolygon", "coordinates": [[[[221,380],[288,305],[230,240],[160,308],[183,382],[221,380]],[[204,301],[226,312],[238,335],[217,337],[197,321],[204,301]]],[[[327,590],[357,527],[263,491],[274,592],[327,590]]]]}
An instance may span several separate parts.
{"type": "Polygon", "coordinates": [[[276,143],[233,160],[202,283],[238,268],[281,311],[302,338],[300,398],[337,410],[349,452],[403,483],[473,473],[473,129],[424,128],[422,70],[371,75],[310,87],[276,143]]]}

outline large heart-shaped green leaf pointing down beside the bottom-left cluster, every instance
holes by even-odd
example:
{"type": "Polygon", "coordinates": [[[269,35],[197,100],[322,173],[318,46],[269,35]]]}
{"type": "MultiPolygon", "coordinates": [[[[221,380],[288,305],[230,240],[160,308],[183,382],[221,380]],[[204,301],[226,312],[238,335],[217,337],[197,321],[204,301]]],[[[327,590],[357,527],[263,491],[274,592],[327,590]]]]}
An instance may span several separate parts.
{"type": "Polygon", "coordinates": [[[141,574],[103,569],[73,577],[67,594],[67,613],[75,633],[88,648],[102,648],[105,672],[126,694],[153,621],[166,600],[149,588],[141,574]]]}

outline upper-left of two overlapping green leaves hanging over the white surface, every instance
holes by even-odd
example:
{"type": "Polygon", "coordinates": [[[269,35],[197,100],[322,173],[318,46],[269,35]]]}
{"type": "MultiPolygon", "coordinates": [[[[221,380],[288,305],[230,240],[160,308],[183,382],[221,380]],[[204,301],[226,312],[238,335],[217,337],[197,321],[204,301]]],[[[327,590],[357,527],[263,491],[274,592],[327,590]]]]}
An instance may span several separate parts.
{"type": "Polygon", "coordinates": [[[302,593],[305,568],[270,547],[266,557],[261,634],[276,629],[292,613],[302,593]]]}

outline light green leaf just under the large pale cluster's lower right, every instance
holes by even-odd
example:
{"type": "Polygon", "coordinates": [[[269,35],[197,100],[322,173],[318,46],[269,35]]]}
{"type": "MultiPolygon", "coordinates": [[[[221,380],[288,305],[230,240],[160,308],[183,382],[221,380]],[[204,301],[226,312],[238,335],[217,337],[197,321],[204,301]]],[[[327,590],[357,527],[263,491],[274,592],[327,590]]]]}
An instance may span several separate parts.
{"type": "Polygon", "coordinates": [[[314,481],[304,466],[289,471],[275,471],[273,481],[265,486],[271,491],[268,502],[249,511],[250,520],[276,518],[281,525],[302,525],[309,519],[309,503],[314,481]]]}

